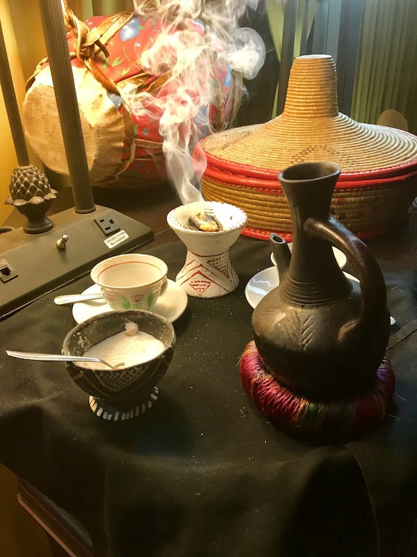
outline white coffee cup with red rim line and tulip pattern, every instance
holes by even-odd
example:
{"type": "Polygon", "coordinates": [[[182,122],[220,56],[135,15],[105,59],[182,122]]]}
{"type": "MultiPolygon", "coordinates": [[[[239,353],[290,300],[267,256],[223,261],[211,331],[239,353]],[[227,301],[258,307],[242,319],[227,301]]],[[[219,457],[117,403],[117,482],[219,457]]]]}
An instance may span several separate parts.
{"type": "Polygon", "coordinates": [[[124,253],[97,263],[90,272],[113,310],[152,311],[167,287],[167,265],[145,253],[124,253]]]}

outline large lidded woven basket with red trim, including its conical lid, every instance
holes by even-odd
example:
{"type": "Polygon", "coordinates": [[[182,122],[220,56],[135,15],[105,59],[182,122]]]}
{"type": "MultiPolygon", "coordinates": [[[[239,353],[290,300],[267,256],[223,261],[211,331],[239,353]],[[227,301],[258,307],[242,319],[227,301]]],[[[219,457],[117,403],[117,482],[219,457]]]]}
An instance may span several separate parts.
{"type": "Polygon", "coordinates": [[[278,181],[279,172],[292,164],[341,166],[331,210],[361,237],[398,228],[417,195],[417,137],[338,112],[336,68],[327,55],[296,58],[280,116],[208,136],[197,144],[195,157],[206,157],[204,197],[245,210],[243,234],[263,240],[272,231],[292,239],[278,181]]]}

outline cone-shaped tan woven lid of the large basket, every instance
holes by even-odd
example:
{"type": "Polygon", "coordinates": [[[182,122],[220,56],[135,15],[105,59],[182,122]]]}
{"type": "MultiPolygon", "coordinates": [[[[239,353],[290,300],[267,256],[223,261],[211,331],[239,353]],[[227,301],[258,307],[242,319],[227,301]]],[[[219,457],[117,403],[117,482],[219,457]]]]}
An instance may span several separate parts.
{"type": "MultiPolygon", "coordinates": [[[[204,139],[207,166],[265,176],[296,164],[330,160],[343,174],[414,170],[417,137],[403,130],[358,123],[338,111],[336,66],[325,54],[300,56],[291,68],[284,111],[265,124],[204,139]],[[242,168],[244,167],[244,168],[242,168]]],[[[347,178],[347,176],[346,176],[347,178]]]]}

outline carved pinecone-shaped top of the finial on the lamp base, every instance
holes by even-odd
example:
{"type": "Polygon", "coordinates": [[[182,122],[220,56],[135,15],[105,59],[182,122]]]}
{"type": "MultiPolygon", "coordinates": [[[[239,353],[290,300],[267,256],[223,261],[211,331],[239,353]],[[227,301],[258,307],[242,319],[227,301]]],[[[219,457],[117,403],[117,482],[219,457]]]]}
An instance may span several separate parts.
{"type": "Polygon", "coordinates": [[[10,196],[6,199],[9,205],[39,205],[56,198],[56,190],[51,189],[47,176],[34,164],[15,168],[10,178],[9,191],[10,196]]]}

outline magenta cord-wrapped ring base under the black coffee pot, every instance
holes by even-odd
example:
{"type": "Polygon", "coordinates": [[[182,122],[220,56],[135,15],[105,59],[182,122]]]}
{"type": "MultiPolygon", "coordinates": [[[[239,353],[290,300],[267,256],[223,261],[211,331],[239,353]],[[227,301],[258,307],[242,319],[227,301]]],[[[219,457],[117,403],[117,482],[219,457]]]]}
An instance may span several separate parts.
{"type": "Polygon", "coordinates": [[[361,437],[382,423],[395,390],[393,368],[389,359],[384,358],[373,387],[357,398],[337,402],[309,400],[272,377],[253,340],[240,358],[239,371],[247,393],[268,421],[304,437],[361,437]]]}

